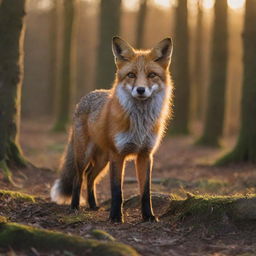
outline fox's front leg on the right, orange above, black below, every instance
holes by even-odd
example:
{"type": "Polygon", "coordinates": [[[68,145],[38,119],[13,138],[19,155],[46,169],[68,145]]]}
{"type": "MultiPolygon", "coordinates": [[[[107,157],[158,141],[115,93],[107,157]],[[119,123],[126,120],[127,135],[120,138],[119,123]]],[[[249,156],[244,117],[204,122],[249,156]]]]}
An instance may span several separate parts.
{"type": "Polygon", "coordinates": [[[151,203],[151,173],[153,157],[149,153],[141,153],[136,159],[136,171],[141,194],[141,213],[144,221],[158,221],[153,214],[151,203]]]}

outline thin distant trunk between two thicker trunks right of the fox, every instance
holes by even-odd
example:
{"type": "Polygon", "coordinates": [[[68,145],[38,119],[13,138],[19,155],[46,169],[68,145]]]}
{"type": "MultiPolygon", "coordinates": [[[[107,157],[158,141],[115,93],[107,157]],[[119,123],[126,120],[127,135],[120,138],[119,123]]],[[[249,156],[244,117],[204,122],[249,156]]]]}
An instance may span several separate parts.
{"type": "Polygon", "coordinates": [[[203,7],[202,0],[197,2],[197,21],[196,21],[196,46],[194,63],[194,117],[201,121],[203,116],[203,7]]]}

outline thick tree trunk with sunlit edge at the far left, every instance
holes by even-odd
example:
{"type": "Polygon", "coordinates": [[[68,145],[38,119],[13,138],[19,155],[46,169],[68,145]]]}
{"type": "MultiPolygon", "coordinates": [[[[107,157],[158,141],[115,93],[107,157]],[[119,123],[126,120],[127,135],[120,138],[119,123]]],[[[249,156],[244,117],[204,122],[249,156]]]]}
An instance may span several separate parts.
{"type": "Polygon", "coordinates": [[[18,142],[23,81],[25,0],[0,2],[0,169],[25,167],[18,142]]]}

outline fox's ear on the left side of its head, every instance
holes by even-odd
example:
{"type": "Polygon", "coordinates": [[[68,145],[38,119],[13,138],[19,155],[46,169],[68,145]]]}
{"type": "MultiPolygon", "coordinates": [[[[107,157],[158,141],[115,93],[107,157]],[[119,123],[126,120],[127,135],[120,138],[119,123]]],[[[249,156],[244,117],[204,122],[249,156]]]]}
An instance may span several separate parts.
{"type": "Polygon", "coordinates": [[[116,63],[129,61],[135,54],[132,46],[118,36],[112,39],[112,51],[116,63]]]}

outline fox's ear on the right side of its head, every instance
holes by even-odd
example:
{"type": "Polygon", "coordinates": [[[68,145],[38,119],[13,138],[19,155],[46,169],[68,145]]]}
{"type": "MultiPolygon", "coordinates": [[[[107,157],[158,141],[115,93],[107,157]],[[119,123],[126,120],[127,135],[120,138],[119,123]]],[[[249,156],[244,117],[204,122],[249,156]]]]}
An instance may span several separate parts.
{"type": "Polygon", "coordinates": [[[155,62],[167,68],[171,63],[172,48],[172,39],[165,38],[151,50],[150,56],[155,62]]]}

